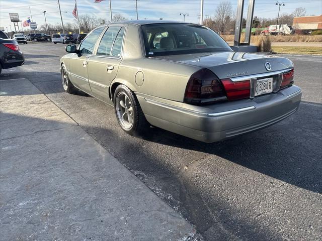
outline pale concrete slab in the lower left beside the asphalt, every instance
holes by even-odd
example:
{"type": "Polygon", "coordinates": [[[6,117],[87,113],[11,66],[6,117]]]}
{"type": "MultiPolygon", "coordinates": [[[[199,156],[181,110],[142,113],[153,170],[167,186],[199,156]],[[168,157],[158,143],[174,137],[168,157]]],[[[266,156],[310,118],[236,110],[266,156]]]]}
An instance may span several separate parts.
{"type": "Polygon", "coordinates": [[[0,79],[0,88],[0,240],[169,241],[194,234],[29,80],[0,79]]]}

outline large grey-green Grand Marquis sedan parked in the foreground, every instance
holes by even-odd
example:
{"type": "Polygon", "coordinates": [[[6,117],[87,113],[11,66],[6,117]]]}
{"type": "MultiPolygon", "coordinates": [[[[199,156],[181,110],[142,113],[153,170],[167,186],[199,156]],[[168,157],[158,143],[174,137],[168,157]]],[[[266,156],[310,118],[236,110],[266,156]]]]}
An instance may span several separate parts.
{"type": "Polygon", "coordinates": [[[273,125],[301,100],[292,61],[233,52],[211,29],[187,23],[126,21],[67,45],[62,86],[114,105],[121,128],[149,125],[216,142],[273,125]]]}

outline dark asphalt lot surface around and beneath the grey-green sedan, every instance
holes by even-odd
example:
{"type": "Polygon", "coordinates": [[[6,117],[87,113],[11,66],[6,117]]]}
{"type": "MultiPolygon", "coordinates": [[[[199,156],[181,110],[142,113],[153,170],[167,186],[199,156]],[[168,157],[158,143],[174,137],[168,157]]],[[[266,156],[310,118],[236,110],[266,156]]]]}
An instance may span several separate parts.
{"type": "Polygon", "coordinates": [[[25,65],[3,70],[0,80],[29,79],[205,240],[321,240],[321,56],[285,56],[303,90],[295,114],[262,131],[205,144],[157,128],[148,137],[126,135],[111,106],[63,91],[64,47],[21,45],[25,65]]]}

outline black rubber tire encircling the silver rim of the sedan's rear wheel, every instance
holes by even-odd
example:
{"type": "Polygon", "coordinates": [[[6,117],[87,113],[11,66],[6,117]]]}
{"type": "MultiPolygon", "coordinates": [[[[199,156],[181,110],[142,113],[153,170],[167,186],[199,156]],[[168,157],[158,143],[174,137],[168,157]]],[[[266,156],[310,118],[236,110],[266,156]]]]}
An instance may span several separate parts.
{"type": "Polygon", "coordinates": [[[114,102],[114,110],[115,110],[117,121],[121,126],[121,128],[123,129],[123,131],[131,136],[144,135],[149,127],[149,124],[146,121],[146,118],[141,109],[139,101],[137,100],[135,94],[129,89],[129,87],[127,87],[124,84],[117,86],[114,92],[113,102],[114,102]],[[132,108],[132,114],[131,114],[132,124],[129,127],[125,127],[120,119],[120,114],[122,110],[118,109],[119,104],[117,103],[117,101],[118,101],[118,96],[121,94],[126,95],[128,97],[128,99],[130,100],[129,104],[132,108]]]}

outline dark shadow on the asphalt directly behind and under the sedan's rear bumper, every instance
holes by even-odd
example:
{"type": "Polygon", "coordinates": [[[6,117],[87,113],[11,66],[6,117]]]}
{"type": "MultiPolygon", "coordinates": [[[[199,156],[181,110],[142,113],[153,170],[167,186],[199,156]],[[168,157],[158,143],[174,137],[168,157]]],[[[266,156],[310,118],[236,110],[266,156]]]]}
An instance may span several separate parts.
{"type": "Polygon", "coordinates": [[[218,143],[202,143],[158,128],[144,139],[217,155],[292,185],[322,193],[320,116],[322,104],[302,102],[298,112],[273,127],[218,143]],[[306,122],[300,122],[301,119],[306,122]]]}

